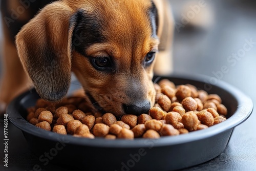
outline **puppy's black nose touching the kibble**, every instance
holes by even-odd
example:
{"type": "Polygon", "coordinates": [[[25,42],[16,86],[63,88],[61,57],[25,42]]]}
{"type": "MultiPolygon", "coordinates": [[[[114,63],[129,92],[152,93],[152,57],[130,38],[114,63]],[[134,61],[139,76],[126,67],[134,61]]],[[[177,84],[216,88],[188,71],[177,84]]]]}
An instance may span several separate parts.
{"type": "Polygon", "coordinates": [[[125,113],[139,116],[141,114],[146,114],[150,110],[151,105],[150,101],[143,100],[129,105],[123,104],[123,108],[125,113]]]}

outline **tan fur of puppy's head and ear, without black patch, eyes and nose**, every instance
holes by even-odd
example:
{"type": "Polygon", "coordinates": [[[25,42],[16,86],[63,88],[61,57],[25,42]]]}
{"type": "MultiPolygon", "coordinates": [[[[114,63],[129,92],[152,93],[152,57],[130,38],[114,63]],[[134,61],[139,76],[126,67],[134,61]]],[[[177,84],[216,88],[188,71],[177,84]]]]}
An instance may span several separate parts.
{"type": "MultiPolygon", "coordinates": [[[[164,6],[161,1],[155,2],[161,18],[158,27],[158,37],[161,37],[162,30],[166,29],[165,13],[161,10],[164,6]]],[[[76,0],[47,5],[16,36],[18,56],[39,95],[51,101],[61,99],[68,91],[73,71],[83,89],[106,112],[123,115],[123,104],[141,99],[150,100],[153,106],[154,65],[148,68],[141,65],[147,53],[158,51],[160,42],[158,37],[152,37],[151,23],[146,15],[150,7],[149,0],[108,0],[108,3],[76,0]],[[116,63],[115,74],[95,70],[87,57],[72,50],[75,26],[70,25],[70,19],[77,9],[89,13],[96,10],[97,17],[105,21],[106,28],[102,31],[108,41],[90,45],[85,53],[89,56],[112,56],[116,63]],[[47,53],[48,50],[50,52],[47,53]],[[50,53],[54,54],[52,59],[46,60],[45,56],[50,53]]],[[[170,49],[168,46],[166,49],[170,49]]],[[[163,47],[161,49],[165,49],[163,47]]]]}

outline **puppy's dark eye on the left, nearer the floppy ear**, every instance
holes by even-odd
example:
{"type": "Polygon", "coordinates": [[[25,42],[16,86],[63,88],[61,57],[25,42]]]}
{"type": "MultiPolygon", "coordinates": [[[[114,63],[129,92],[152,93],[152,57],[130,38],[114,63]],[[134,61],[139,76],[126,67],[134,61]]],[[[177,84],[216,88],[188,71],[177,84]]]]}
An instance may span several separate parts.
{"type": "Polygon", "coordinates": [[[101,71],[111,68],[110,58],[106,56],[93,57],[92,64],[94,68],[101,71]]]}

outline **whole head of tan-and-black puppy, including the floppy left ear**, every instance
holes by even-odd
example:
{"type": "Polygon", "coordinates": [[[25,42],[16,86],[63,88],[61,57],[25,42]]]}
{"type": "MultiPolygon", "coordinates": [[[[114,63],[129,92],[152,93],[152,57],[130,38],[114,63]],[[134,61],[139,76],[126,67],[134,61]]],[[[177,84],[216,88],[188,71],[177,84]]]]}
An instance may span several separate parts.
{"type": "Polygon", "coordinates": [[[147,113],[155,102],[157,18],[150,0],[55,2],[18,33],[17,50],[46,100],[67,94],[73,71],[99,109],[147,113]]]}

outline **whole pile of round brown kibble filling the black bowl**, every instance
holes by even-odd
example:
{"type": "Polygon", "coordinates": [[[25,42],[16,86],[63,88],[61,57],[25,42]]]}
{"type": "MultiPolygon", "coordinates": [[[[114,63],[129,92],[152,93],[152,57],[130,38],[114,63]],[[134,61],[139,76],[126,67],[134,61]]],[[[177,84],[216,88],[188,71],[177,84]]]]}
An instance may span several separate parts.
{"type": "Polygon", "coordinates": [[[84,98],[74,96],[50,103],[38,99],[27,120],[47,131],[76,137],[105,139],[160,138],[206,129],[226,120],[227,109],[217,94],[191,84],[175,86],[167,79],[155,84],[156,104],[148,114],[92,113],[84,98]]]}

